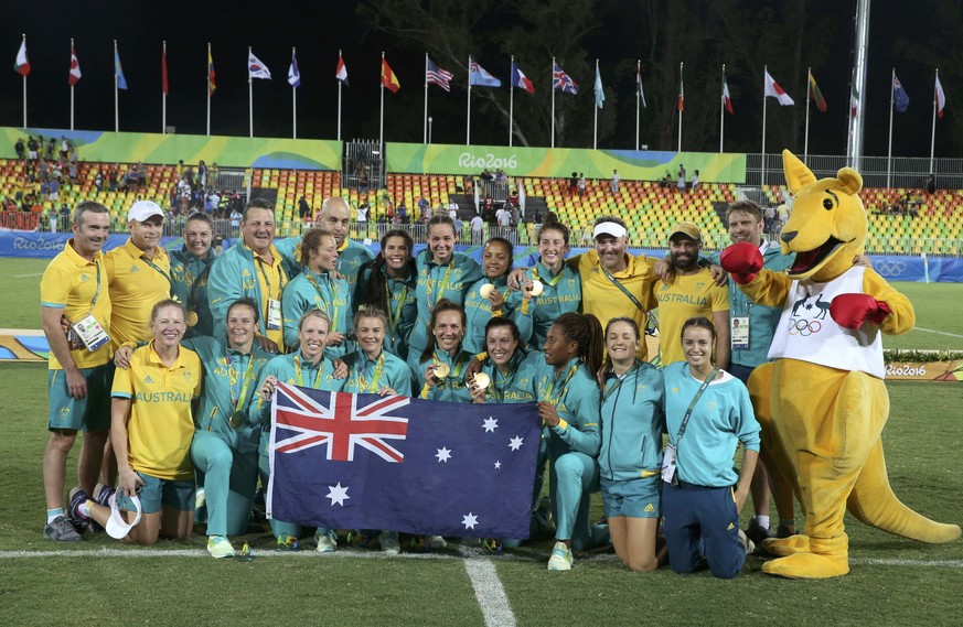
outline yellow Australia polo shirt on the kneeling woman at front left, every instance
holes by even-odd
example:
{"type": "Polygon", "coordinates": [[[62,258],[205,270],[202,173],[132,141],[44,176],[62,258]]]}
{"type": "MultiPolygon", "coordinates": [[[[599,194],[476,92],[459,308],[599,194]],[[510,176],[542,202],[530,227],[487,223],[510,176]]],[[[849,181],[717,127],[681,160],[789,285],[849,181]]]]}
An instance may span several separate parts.
{"type": "Polygon", "coordinates": [[[193,480],[191,401],[201,396],[201,358],[180,347],[168,368],[153,342],[136,349],[130,368],[117,369],[111,397],[130,399],[127,460],[139,473],[168,480],[193,480]]]}

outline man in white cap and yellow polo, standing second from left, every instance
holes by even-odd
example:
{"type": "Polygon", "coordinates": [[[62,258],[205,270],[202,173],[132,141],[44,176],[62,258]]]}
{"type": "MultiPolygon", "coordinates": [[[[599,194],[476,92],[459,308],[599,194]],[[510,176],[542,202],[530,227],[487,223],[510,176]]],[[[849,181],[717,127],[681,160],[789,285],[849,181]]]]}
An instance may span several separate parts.
{"type": "Polygon", "coordinates": [[[157,203],[133,203],[127,212],[130,239],[105,256],[115,350],[125,342],[150,339],[151,309],[171,295],[171,259],[160,245],[163,221],[163,209],[157,203]]]}

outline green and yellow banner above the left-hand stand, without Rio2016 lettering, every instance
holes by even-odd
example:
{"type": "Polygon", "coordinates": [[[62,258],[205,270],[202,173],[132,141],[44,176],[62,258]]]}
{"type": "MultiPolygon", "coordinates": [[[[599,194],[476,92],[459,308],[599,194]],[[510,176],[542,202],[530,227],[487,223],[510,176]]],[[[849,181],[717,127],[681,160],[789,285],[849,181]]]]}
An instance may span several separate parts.
{"type": "Polygon", "coordinates": [[[315,139],[276,139],[223,136],[115,133],[62,129],[0,128],[0,159],[15,159],[13,144],[26,134],[45,140],[66,137],[81,161],[120,163],[217,163],[234,167],[341,170],[341,142],[315,139]]]}

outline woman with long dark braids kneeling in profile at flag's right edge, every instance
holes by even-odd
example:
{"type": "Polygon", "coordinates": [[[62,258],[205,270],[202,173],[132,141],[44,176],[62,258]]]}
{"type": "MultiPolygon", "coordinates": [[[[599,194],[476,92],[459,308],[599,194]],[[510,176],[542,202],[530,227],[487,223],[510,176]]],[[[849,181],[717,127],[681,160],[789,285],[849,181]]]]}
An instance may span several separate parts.
{"type": "Polygon", "coordinates": [[[599,385],[602,328],[591,314],[558,316],[545,338],[545,367],[536,390],[548,428],[548,490],[555,514],[549,571],[571,569],[571,548],[608,542],[608,530],[589,525],[591,493],[599,491],[599,385]]]}

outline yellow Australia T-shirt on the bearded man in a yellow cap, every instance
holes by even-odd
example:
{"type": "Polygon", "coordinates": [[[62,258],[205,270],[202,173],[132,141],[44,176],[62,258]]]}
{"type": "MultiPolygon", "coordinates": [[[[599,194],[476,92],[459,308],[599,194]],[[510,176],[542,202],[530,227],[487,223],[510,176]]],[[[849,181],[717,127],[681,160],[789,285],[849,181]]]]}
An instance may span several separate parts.
{"type": "Polygon", "coordinates": [[[685,360],[681,335],[685,321],[703,316],[713,322],[714,312],[729,311],[729,288],[716,285],[708,268],[676,277],[672,283],[659,280],[652,287],[652,295],[659,306],[659,354],[663,367],[685,360]]]}

